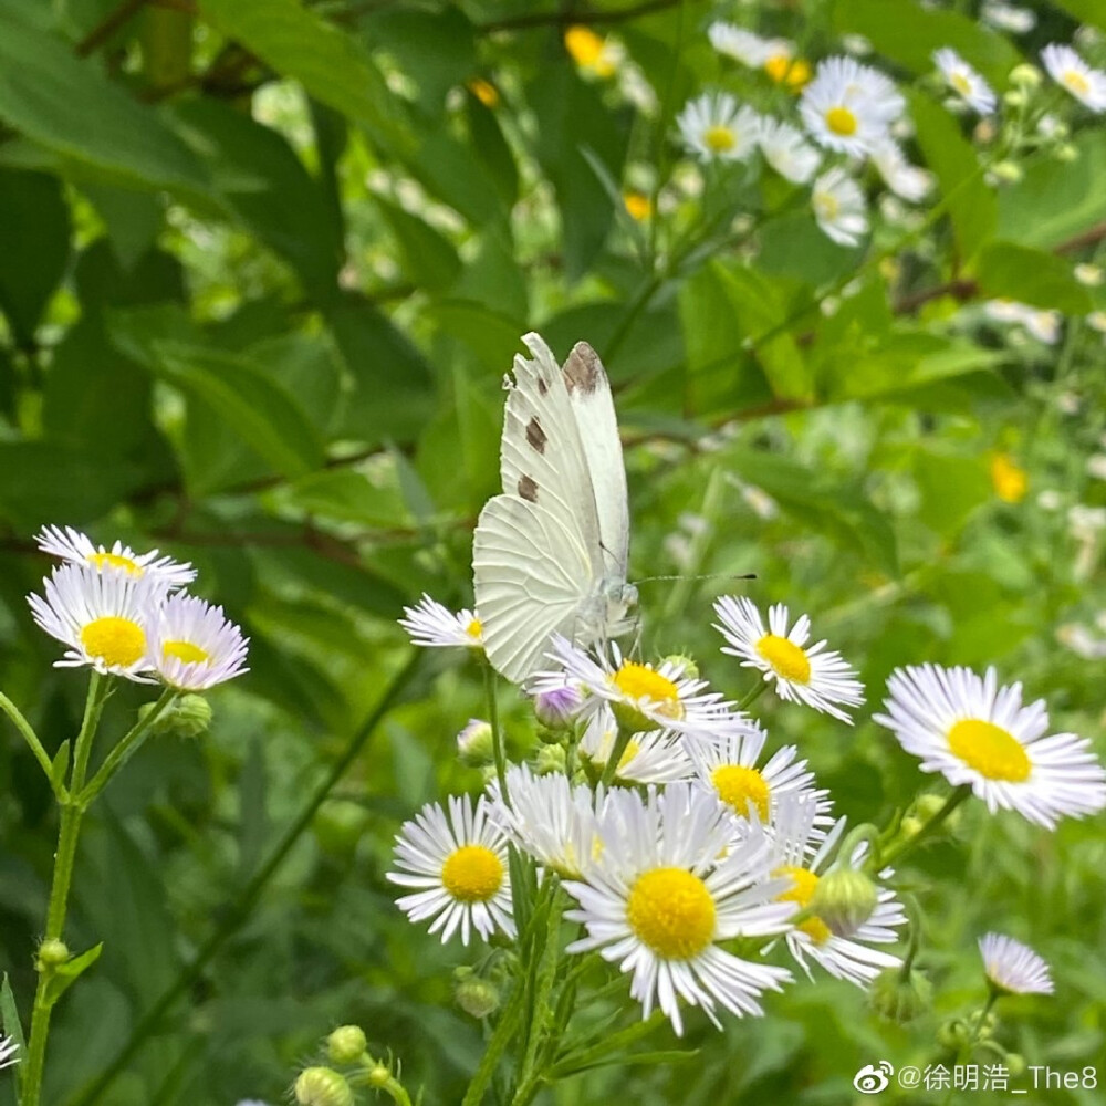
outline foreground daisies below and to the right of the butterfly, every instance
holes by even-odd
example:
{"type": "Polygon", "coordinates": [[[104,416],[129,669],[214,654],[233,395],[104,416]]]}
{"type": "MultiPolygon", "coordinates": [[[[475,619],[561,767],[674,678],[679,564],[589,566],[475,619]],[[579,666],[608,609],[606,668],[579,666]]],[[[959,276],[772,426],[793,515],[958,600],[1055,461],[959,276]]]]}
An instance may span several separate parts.
{"type": "MultiPolygon", "coordinates": [[[[744,597],[714,611],[722,651],[760,676],[747,703],[771,687],[851,721],[864,688],[837,651],[811,641],[808,618],[792,623],[774,606],[765,620],[744,597]]],[[[422,646],[481,647],[478,612],[429,596],[401,625],[422,646]]],[[[776,943],[807,975],[818,967],[862,988],[900,964],[885,948],[906,921],[887,885],[894,873],[865,835],[846,833],[795,745],[769,752],[764,729],[687,658],[645,664],[563,637],[547,657],[524,690],[560,743],[502,775],[489,769],[476,801],[427,804],[397,836],[389,879],[408,889],[398,905],[413,921],[444,941],[514,937],[513,847],[571,896],[565,917],[583,930],[567,951],[616,963],[644,1015],[659,1006],[677,1032],[681,1003],[716,1023],[719,1009],[761,1013],[764,992],[791,980],[762,958],[776,943]]],[[[991,811],[1052,827],[1106,806],[1089,743],[1047,735],[1043,702],[1023,706],[1021,686],[1000,688],[993,670],[897,670],[884,710],[876,720],[924,771],[970,787],[991,811]]],[[[470,722],[459,745],[471,758],[481,740],[487,763],[486,723],[470,722]]]]}

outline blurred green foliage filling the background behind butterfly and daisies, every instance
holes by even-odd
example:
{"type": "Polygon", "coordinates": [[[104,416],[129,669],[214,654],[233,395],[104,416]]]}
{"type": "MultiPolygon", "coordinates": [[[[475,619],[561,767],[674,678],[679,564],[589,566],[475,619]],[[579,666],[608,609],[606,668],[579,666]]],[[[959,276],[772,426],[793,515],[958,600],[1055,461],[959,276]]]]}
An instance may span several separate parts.
{"type": "MultiPolygon", "coordinates": [[[[70,943],[106,945],[60,1009],[50,1103],[87,1103],[128,1040],[98,1102],[275,1102],[348,1021],[394,1050],[427,1103],[459,1100],[481,1031],[451,1005],[450,974],[476,953],[410,927],[384,874],[419,804],[480,786],[453,737],[483,707],[456,658],[405,668],[395,619],[424,589],[471,598],[501,380],[530,328],[561,356],[578,338],[603,355],[632,577],[685,577],[641,585],[646,653],[690,650],[740,695],[710,598],[754,572],[749,594],[810,612],[872,702],[898,664],[993,662],[1047,697],[1056,729],[1106,751],[1103,661],[1055,637],[1106,606],[1102,534],[1073,535],[1066,518],[1106,504],[1086,470],[1106,429],[1104,351],[1079,321],[1106,299],[1071,274],[1106,227],[1106,131],[1086,126],[1076,160],[1031,159],[995,192],[916,79],[952,44],[1002,88],[1019,49],[973,3],[894,8],[758,6],[768,27],[801,27],[811,56],[863,33],[914,82],[942,206],[925,233],[880,227],[865,252],[822,237],[779,179],[728,198],[754,218],[751,239],[707,234],[692,200],[664,226],[624,211],[636,174],[648,189],[671,173],[684,101],[744,90],[706,41],[726,13],[706,3],[570,15],[523,0],[0,0],[0,687],[51,751],[74,732],[84,681],[51,668],[56,646],[24,601],[48,567],[31,541],[48,522],[192,561],[197,591],[252,637],[250,675],[211,697],[211,733],[150,744],[90,821],[70,943]],[[659,118],[567,56],[564,27],[591,19],[657,90],[659,118]],[[497,105],[468,90],[476,79],[497,105]],[[1063,344],[1006,343],[978,311],[988,296],[1067,313],[1063,344]],[[995,497],[997,451],[1029,473],[1018,504],[995,497]],[[762,518],[749,488],[779,511],[762,518]],[[181,1001],[144,1024],[175,982],[181,1001]]],[[[1068,41],[1076,18],[1106,27],[1089,2],[1039,10],[1026,51],[1068,41]]],[[[117,695],[104,732],[143,698],[117,695]]],[[[916,763],[868,710],[854,729],[763,710],[851,818],[886,820],[917,792],[916,763]]],[[[521,703],[509,724],[521,755],[521,703]]],[[[4,723],[0,968],[24,1018],[54,834],[49,789],[4,723]]],[[[1031,1063],[1100,1061],[1104,867],[1100,820],[1046,834],[971,805],[902,878],[928,919],[931,1015],[888,1026],[820,979],[720,1035],[693,1018],[684,1063],[599,1071],[545,1100],[849,1102],[863,1064],[935,1058],[940,1018],[979,994],[974,939],[991,928],[1033,943],[1057,980],[1054,1001],[1009,1001],[1005,1043],[1031,1063]]]]}

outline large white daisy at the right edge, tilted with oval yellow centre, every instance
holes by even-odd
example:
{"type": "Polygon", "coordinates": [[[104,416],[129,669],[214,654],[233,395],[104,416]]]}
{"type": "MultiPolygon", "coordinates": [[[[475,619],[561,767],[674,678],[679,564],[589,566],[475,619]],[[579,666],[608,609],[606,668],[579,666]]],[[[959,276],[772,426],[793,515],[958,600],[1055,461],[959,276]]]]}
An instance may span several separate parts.
{"type": "Polygon", "coordinates": [[[1074,733],[1045,737],[1044,700],[1022,706],[1022,686],[999,687],[993,668],[939,665],[897,668],[887,681],[887,727],[921,758],[922,772],[940,772],[953,786],[970,784],[993,814],[1018,811],[1052,830],[1057,818],[1106,807],[1106,771],[1091,742],[1074,733]]]}

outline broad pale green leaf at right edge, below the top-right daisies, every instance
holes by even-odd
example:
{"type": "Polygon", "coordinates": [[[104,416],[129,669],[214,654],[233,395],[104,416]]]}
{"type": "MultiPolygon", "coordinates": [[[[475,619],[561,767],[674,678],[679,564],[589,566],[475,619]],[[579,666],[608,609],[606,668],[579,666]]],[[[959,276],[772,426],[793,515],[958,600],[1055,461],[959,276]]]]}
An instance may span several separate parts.
{"type": "Polygon", "coordinates": [[[1074,161],[1039,154],[1021,181],[999,194],[1001,238],[1051,250],[1106,219],[1106,131],[1084,131],[1074,145],[1074,161]]]}

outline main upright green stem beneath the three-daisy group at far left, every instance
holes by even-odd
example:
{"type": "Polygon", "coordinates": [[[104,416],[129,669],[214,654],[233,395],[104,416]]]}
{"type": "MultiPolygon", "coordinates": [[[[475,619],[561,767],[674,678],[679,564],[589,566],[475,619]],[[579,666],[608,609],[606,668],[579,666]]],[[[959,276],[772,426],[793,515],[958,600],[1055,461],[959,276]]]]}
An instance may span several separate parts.
{"type": "MultiPolygon", "coordinates": [[[[74,795],[84,783],[84,773],[92,754],[96,728],[100,726],[100,714],[109,691],[111,684],[98,672],[93,671],[88,680],[88,695],[84,703],[81,732],[77,734],[73,753],[71,786],[69,795],[61,803],[58,852],[54,854],[54,872],[50,883],[50,905],[46,908],[45,940],[48,941],[62,940],[65,931],[65,915],[69,911],[76,846],[81,836],[81,818],[84,814],[84,807],[80,805],[74,795]]],[[[50,1015],[53,1011],[53,1000],[49,994],[52,978],[53,970],[50,967],[40,967],[39,982],[34,990],[34,1005],[31,1010],[31,1039],[27,1050],[27,1064],[22,1072],[22,1106],[39,1106],[39,1099],[42,1095],[42,1076],[46,1064],[46,1039],[50,1036],[50,1015]]]]}

